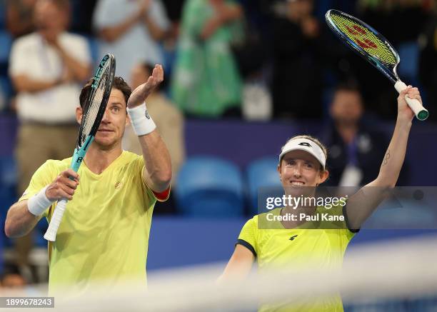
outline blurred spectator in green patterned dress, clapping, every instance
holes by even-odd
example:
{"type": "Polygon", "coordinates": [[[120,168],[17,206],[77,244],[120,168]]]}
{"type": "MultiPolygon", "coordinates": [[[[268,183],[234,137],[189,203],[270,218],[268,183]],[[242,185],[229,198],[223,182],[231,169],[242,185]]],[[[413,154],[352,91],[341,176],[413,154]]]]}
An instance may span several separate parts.
{"type": "Polygon", "coordinates": [[[236,1],[186,1],[171,85],[173,99],[185,113],[241,114],[241,79],[231,51],[241,16],[236,1]]]}

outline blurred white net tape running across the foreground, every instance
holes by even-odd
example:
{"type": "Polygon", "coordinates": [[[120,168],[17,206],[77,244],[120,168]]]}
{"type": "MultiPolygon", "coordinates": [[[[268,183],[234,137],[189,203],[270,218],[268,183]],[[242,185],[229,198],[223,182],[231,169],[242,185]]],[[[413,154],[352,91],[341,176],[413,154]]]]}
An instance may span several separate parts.
{"type": "MultiPolygon", "coordinates": [[[[217,278],[225,263],[155,271],[149,275],[147,290],[134,283],[111,288],[111,291],[96,284],[77,298],[64,300],[55,296],[54,310],[256,311],[259,302],[295,302],[303,297],[320,298],[338,292],[344,303],[378,298],[437,298],[436,259],[437,236],[429,236],[353,248],[348,251],[340,271],[308,268],[252,273],[243,281],[221,283],[217,283],[217,278]]],[[[39,290],[41,296],[46,296],[44,286],[39,290]]]]}

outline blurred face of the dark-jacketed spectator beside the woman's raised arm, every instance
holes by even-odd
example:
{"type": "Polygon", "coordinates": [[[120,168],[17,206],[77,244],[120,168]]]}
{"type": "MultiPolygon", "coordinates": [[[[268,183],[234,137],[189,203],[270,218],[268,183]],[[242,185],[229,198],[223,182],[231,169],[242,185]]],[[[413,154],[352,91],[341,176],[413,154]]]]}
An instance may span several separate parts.
{"type": "Polygon", "coordinates": [[[335,121],[356,124],[363,114],[361,95],[356,91],[340,90],[333,97],[331,116],[335,121]]]}

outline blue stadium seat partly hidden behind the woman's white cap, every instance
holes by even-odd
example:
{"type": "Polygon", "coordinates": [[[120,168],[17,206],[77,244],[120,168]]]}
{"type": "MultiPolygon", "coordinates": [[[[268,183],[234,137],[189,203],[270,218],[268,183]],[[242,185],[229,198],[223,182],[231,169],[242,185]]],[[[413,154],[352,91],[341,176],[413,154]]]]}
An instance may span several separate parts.
{"type": "Polygon", "coordinates": [[[281,181],[279,180],[278,157],[264,157],[249,163],[246,169],[248,183],[248,197],[250,201],[250,211],[253,214],[258,213],[258,190],[259,188],[275,188],[282,189],[281,181]]]}

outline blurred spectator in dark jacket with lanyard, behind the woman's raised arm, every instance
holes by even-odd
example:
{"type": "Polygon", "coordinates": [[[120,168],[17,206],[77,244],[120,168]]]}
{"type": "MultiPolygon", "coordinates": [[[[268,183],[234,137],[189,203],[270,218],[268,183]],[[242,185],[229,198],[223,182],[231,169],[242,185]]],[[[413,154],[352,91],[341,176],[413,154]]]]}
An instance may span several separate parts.
{"type": "Polygon", "coordinates": [[[363,103],[356,86],[337,86],[330,114],[332,123],[321,135],[329,153],[326,185],[362,186],[373,181],[378,176],[388,140],[374,125],[362,122],[363,103]]]}

